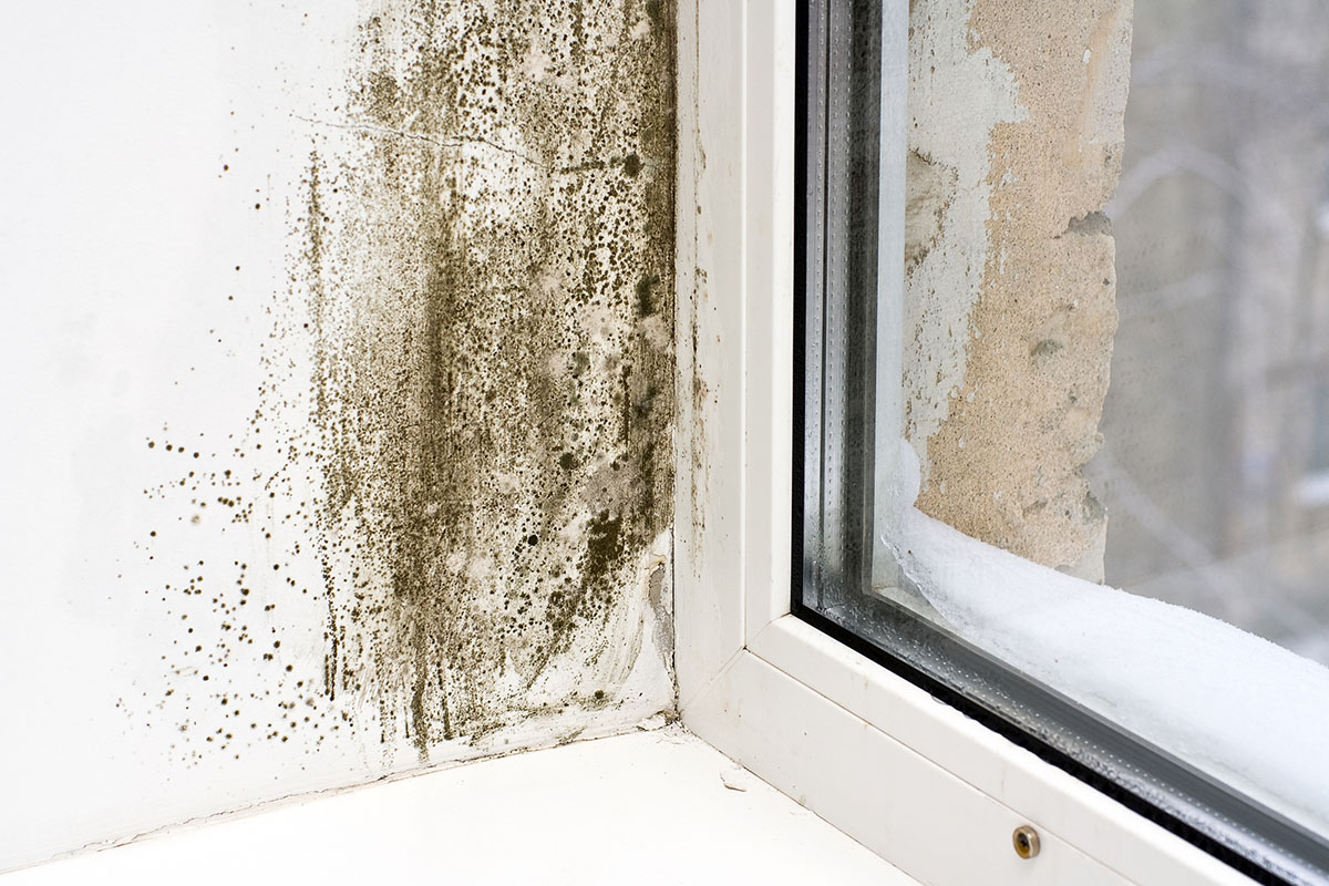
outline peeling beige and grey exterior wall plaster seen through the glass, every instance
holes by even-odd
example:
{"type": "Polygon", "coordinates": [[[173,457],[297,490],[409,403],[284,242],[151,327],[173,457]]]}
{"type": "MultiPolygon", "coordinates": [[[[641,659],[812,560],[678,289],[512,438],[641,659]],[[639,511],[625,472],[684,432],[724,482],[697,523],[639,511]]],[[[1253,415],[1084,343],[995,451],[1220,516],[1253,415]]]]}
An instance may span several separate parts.
{"type": "Polygon", "coordinates": [[[905,424],[918,506],[1102,579],[1082,469],[1116,328],[1131,0],[910,3],[905,424]]]}

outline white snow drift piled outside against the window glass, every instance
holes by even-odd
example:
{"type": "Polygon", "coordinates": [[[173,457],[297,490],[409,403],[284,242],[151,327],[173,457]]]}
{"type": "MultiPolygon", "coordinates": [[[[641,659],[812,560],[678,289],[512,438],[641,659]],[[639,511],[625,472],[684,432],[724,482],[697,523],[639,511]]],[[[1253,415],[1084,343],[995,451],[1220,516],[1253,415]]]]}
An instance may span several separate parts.
{"type": "Polygon", "coordinates": [[[898,464],[882,539],[956,634],[1329,833],[1329,668],[1208,615],[970,538],[913,506],[920,473],[908,442],[898,464]]]}

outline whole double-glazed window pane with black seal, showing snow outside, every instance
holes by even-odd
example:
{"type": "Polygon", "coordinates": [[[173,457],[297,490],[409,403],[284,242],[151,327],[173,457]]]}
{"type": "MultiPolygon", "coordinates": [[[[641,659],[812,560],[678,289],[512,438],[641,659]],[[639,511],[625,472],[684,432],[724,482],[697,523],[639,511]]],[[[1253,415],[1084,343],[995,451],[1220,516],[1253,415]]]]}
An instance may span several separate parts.
{"type": "Polygon", "coordinates": [[[1326,882],[1329,19],[970,5],[803,11],[795,611],[1326,882]]]}

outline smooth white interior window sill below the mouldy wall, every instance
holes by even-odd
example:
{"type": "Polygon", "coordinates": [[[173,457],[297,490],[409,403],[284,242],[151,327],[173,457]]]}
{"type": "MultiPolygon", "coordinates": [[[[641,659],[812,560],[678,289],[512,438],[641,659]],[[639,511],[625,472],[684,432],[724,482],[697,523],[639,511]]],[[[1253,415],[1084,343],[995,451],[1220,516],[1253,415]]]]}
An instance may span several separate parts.
{"type": "Polygon", "coordinates": [[[181,826],[0,882],[182,873],[191,883],[916,883],[679,727],[181,826]]]}

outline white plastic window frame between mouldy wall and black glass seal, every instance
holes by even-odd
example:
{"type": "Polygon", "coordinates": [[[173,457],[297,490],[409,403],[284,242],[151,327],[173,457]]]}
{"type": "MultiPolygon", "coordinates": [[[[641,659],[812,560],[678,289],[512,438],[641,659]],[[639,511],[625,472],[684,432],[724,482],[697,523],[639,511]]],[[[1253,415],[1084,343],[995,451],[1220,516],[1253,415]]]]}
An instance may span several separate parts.
{"type": "Polygon", "coordinates": [[[789,614],[795,0],[678,15],[684,724],[926,883],[1251,883],[789,614]]]}

